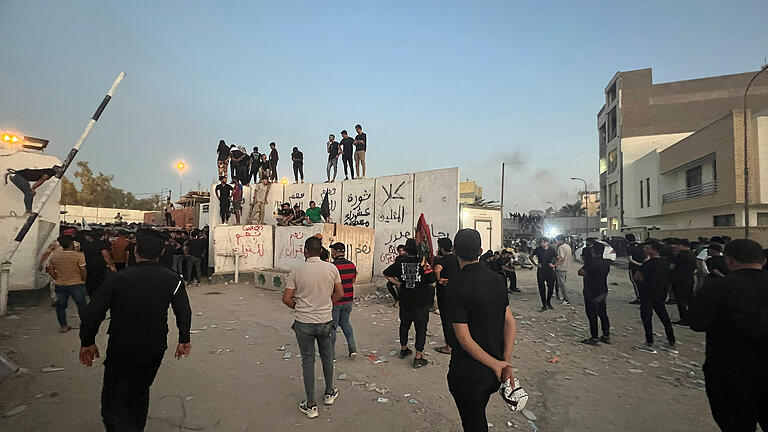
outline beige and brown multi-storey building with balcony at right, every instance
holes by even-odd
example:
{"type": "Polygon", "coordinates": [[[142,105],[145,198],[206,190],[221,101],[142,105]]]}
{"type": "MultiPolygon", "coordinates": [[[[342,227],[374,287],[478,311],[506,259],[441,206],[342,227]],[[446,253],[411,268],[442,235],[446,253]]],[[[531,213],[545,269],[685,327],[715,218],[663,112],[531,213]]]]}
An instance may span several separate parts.
{"type": "MultiPolygon", "coordinates": [[[[598,113],[608,235],[744,226],[742,106],[753,75],[663,84],[650,69],[614,76],[598,113]]],[[[768,227],[768,76],[749,94],[750,226],[768,227]]]]}

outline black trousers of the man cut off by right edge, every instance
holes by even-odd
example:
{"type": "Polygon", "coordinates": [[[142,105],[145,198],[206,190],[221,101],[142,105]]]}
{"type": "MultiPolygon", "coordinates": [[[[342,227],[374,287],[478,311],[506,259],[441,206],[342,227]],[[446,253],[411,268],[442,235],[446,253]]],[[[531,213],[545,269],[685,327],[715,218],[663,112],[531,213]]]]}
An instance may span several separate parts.
{"type": "Polygon", "coordinates": [[[712,418],[723,432],[768,431],[768,374],[746,372],[734,365],[704,364],[712,418]]]}

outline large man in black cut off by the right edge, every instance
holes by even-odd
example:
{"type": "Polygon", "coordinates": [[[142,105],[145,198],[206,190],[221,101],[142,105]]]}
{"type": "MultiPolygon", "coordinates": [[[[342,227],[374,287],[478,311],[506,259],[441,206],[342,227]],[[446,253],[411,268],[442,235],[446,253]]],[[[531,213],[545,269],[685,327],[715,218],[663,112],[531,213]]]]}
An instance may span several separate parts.
{"type": "Polygon", "coordinates": [[[768,274],[757,242],[725,246],[732,273],[693,298],[691,329],[707,332],[704,378],[712,417],[723,431],[768,431],[768,274]]]}

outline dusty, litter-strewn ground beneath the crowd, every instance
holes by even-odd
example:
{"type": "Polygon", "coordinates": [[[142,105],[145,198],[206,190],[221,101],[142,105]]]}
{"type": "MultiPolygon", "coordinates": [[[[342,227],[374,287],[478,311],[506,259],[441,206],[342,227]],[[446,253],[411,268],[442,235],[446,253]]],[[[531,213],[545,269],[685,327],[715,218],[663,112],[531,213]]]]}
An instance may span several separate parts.
{"type": "MultiPolygon", "coordinates": [[[[699,381],[703,334],[676,327],[677,356],[633,350],[643,340],[642,325],[637,307],[627,304],[632,295],[626,271],[614,268],[610,275],[609,282],[618,283],[611,286],[608,305],[613,344],[598,347],[578,343],[588,332],[577,290],[572,290],[573,306],[556,305],[554,311],[540,313],[535,273],[520,270],[518,279],[523,293],[511,297],[519,323],[513,363],[531,395],[528,408],[536,420],[509,412],[494,396],[488,406],[492,431],[716,430],[699,381]],[[550,363],[555,356],[559,361],[550,363]]],[[[575,270],[571,285],[581,286],[575,270]]],[[[429,323],[433,364],[417,371],[410,360],[373,363],[366,358],[371,352],[387,358],[397,349],[397,313],[388,299],[359,303],[352,323],[361,358],[339,359],[336,376],[347,374],[336,384],[341,396],[330,409],[321,405],[320,417],[309,420],[296,409],[303,398],[301,359],[290,330],[291,313],[279,294],[248,284],[216,284],[193,287],[190,297],[196,313],[192,328],[199,329],[192,336],[192,356],[176,361],[172,351],[167,353],[152,387],[148,431],[460,430],[445,381],[448,356],[433,351],[442,344],[437,315],[429,323]],[[290,359],[283,359],[281,345],[293,354],[290,359]],[[368,390],[364,383],[387,392],[368,390]],[[388,401],[377,401],[380,397],[388,401]]],[[[675,317],[674,306],[669,309],[675,317]]],[[[74,311],[70,306],[69,315],[76,316],[74,311]]],[[[0,348],[28,372],[0,383],[0,413],[19,405],[27,408],[0,418],[0,430],[100,430],[103,366],[89,369],[78,363],[76,332],[56,333],[49,306],[11,313],[18,318],[0,319],[0,348]],[[47,366],[64,370],[42,372],[47,366]]],[[[170,319],[172,323],[172,314],[170,319]]],[[[77,324],[76,317],[70,320],[77,324]]],[[[654,325],[663,333],[657,320],[654,325]]],[[[102,326],[97,339],[102,353],[104,330],[102,326]]],[[[169,340],[175,338],[171,330],[169,340]]],[[[337,351],[346,352],[342,335],[337,343],[337,351]]],[[[316,364],[321,376],[319,359],[316,364]]],[[[321,392],[322,383],[317,388],[321,392]]]]}

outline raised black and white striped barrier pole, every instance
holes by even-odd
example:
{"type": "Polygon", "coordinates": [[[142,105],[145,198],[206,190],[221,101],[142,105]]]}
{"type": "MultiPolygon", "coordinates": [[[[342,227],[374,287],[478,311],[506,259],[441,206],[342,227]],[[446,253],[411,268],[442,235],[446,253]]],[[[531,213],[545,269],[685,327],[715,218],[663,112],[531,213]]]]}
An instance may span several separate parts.
{"type": "Polygon", "coordinates": [[[91,120],[89,120],[88,124],[85,125],[85,130],[83,130],[83,133],[80,134],[80,138],[78,138],[77,142],[75,142],[75,145],[72,147],[72,150],[69,151],[67,158],[61,164],[61,169],[58,173],[56,173],[54,178],[47,182],[50,183],[50,185],[47,187],[40,199],[37,200],[37,206],[32,210],[32,214],[27,217],[26,222],[24,222],[21,230],[16,235],[14,241],[11,243],[10,249],[6,252],[5,259],[3,260],[3,263],[0,264],[0,315],[5,315],[8,309],[8,278],[11,272],[11,260],[13,259],[13,256],[19,249],[19,246],[21,245],[22,240],[24,240],[24,237],[26,237],[27,233],[29,232],[29,229],[32,228],[32,224],[35,223],[37,216],[40,215],[40,211],[42,211],[43,207],[45,207],[45,204],[51,198],[51,195],[53,195],[53,191],[61,181],[61,177],[64,176],[67,168],[69,168],[69,165],[72,164],[72,161],[75,159],[75,156],[80,150],[80,147],[85,142],[85,139],[88,138],[88,134],[91,133],[91,129],[93,129],[93,127],[96,125],[96,122],[99,121],[101,113],[104,112],[104,109],[112,99],[112,95],[115,94],[115,90],[117,90],[117,87],[123,81],[123,78],[125,78],[125,72],[120,72],[120,74],[117,76],[117,79],[115,79],[115,82],[112,83],[112,87],[107,92],[107,95],[104,96],[104,100],[101,101],[101,104],[96,109],[96,112],[93,113],[93,117],[91,117],[91,120]]]}

